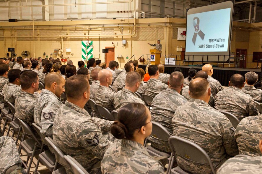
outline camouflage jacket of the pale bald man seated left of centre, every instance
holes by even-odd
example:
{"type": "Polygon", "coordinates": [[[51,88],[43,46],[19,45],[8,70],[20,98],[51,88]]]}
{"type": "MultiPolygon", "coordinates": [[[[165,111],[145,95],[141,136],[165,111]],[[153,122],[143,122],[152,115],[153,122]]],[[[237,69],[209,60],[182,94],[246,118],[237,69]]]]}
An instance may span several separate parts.
{"type": "Polygon", "coordinates": [[[114,97],[115,91],[111,90],[109,87],[99,85],[97,92],[95,93],[95,102],[97,105],[105,107],[111,112],[112,110],[115,110],[114,97]]]}

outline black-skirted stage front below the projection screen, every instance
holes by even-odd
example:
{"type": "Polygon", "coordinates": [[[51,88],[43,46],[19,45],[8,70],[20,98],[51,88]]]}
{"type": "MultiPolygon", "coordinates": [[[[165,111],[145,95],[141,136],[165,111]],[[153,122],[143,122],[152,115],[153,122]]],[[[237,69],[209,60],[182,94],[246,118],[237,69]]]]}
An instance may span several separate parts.
{"type": "MultiPolygon", "coordinates": [[[[171,74],[172,72],[174,72],[175,68],[181,68],[182,69],[182,73],[184,75],[184,77],[188,77],[188,69],[190,68],[196,68],[197,71],[201,70],[202,67],[201,66],[183,66],[183,65],[164,65],[165,66],[165,73],[167,74],[171,74]]],[[[139,68],[142,68],[144,70],[146,70],[147,65],[142,65],[140,64],[138,66],[139,68]]],[[[245,73],[249,72],[249,71],[253,71],[256,72],[258,74],[258,80],[261,79],[261,69],[253,69],[253,68],[222,68],[222,67],[213,67],[213,75],[212,77],[214,79],[217,79],[222,86],[228,86],[228,82],[230,80],[230,77],[233,74],[241,74],[245,77],[245,73]]],[[[256,85],[255,87],[260,87],[259,85],[256,85]]]]}

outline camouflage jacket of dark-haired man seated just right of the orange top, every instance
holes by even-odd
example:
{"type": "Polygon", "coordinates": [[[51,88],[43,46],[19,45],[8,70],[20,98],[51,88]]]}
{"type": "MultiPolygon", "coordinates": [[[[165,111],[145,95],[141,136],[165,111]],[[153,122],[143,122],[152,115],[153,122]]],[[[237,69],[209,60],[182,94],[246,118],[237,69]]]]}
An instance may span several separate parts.
{"type": "Polygon", "coordinates": [[[161,80],[150,78],[147,81],[144,89],[145,89],[145,94],[155,97],[161,91],[167,89],[167,87],[168,87],[167,84],[163,83],[161,80]]]}

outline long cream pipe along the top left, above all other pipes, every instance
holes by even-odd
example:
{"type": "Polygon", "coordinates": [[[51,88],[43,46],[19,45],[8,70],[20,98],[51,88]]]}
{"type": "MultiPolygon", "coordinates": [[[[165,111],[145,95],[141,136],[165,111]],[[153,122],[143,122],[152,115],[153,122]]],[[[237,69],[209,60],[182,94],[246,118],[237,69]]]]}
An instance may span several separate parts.
{"type": "Polygon", "coordinates": [[[25,6],[0,6],[0,8],[15,8],[15,7],[48,7],[48,6],[71,6],[71,5],[92,5],[92,4],[116,4],[116,3],[128,3],[129,1],[112,1],[112,2],[90,2],[90,3],[76,3],[76,4],[48,4],[48,5],[25,5],[25,6]]]}

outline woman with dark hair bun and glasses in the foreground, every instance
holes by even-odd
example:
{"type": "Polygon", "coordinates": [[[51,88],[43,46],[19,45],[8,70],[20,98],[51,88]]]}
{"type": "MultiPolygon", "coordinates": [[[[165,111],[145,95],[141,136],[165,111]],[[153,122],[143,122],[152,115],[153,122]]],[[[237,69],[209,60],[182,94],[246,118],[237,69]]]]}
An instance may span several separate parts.
{"type": "Polygon", "coordinates": [[[144,140],[152,132],[151,114],[147,107],[140,103],[121,107],[110,130],[114,137],[122,140],[105,152],[101,161],[103,174],[164,173],[162,164],[144,148],[144,140]]]}

